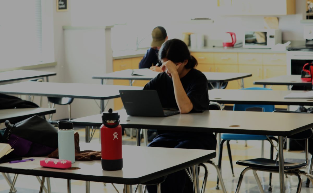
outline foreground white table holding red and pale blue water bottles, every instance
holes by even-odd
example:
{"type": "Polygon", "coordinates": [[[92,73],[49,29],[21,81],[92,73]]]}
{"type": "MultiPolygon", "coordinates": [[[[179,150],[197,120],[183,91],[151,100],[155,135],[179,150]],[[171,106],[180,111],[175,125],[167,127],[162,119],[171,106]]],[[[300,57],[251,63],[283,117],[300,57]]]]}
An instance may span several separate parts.
{"type": "MultiPolygon", "coordinates": [[[[100,144],[80,143],[80,149],[100,150],[100,144]]],[[[102,170],[100,160],[75,161],[75,163],[72,164],[72,168],[76,167],[78,169],[61,170],[46,168],[39,165],[39,161],[42,157],[32,157],[35,159],[32,162],[0,164],[0,172],[43,176],[40,192],[42,192],[43,189],[44,177],[54,177],[68,179],[68,192],[70,192],[69,179],[73,179],[86,181],[86,192],[89,192],[89,181],[96,181],[125,184],[126,192],[131,193],[132,185],[134,184],[142,184],[188,167],[192,167],[193,177],[197,179],[197,165],[216,157],[216,152],[213,150],[127,145],[122,146],[122,154],[123,169],[118,171],[102,170]]],[[[195,187],[198,186],[197,183],[198,180],[194,180],[195,187]]],[[[199,191],[197,193],[199,193],[199,191]]]]}

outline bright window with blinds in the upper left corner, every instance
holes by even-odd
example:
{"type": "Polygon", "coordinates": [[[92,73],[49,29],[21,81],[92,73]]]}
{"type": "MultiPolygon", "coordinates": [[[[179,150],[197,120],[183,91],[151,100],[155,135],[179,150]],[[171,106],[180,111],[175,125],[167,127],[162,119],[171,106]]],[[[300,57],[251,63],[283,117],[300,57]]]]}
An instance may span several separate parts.
{"type": "MultiPolygon", "coordinates": [[[[45,61],[42,3],[48,5],[42,0],[0,2],[0,68],[52,62],[51,57],[45,61]]],[[[51,47],[51,43],[48,45],[51,47]]]]}

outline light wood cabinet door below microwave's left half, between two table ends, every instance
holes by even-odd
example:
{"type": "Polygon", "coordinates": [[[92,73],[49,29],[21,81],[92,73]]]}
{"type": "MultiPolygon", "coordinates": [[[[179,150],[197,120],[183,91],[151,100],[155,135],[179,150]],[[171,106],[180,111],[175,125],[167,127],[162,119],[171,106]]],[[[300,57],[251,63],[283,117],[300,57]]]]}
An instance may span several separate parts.
{"type": "Polygon", "coordinates": [[[262,65],[239,65],[239,72],[252,74],[252,76],[244,78],[244,88],[263,87],[263,85],[253,84],[256,80],[262,80],[262,65]]]}

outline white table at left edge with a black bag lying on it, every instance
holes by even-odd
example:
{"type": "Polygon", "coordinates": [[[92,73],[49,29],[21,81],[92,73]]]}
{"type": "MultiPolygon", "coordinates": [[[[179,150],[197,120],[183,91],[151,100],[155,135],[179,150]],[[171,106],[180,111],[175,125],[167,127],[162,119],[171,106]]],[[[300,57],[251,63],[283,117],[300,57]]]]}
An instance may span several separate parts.
{"type": "Polygon", "coordinates": [[[49,108],[23,108],[23,109],[0,109],[0,123],[10,120],[18,122],[34,115],[42,116],[55,113],[55,109],[49,108]]]}

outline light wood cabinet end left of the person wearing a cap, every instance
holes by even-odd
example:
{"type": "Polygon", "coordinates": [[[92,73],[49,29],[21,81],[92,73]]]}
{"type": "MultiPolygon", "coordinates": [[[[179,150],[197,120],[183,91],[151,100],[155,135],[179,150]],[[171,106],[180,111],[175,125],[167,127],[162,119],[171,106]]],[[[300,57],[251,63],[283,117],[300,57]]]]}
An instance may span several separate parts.
{"type": "MultiPolygon", "coordinates": [[[[126,69],[138,69],[141,59],[142,57],[113,60],[113,72],[126,69]]],[[[133,82],[133,86],[144,86],[147,82],[147,80],[135,80],[133,82]]],[[[126,86],[130,85],[129,80],[113,80],[113,84],[126,86]]],[[[123,103],[121,98],[114,99],[114,110],[119,110],[122,108],[123,103]]]]}

